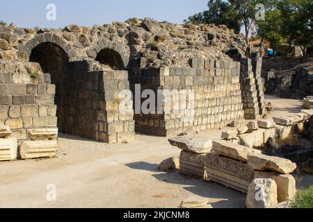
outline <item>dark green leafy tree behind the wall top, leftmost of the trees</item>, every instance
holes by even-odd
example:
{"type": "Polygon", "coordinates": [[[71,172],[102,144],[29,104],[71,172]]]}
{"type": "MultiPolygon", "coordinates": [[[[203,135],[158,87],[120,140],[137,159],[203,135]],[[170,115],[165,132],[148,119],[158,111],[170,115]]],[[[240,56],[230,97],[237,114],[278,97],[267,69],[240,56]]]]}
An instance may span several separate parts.
{"type": "Polygon", "coordinates": [[[234,29],[235,33],[240,32],[241,21],[230,3],[222,0],[209,0],[207,6],[209,10],[195,14],[188,20],[194,24],[224,24],[228,28],[234,29]]]}

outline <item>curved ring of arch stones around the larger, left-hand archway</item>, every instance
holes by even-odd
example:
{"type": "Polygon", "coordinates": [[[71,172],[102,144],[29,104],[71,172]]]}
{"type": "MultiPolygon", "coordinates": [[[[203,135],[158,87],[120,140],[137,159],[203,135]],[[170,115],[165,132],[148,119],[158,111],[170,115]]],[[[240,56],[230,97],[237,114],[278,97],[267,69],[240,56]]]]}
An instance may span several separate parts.
{"type": "Polygon", "coordinates": [[[67,42],[63,39],[63,37],[60,37],[59,35],[56,35],[55,33],[42,33],[35,35],[29,42],[26,42],[26,44],[19,47],[19,50],[17,51],[17,56],[19,60],[22,61],[29,61],[29,56],[31,56],[31,51],[42,43],[54,43],[57,46],[59,46],[63,51],[67,54],[67,57],[69,60],[74,60],[74,58],[77,56],[77,52],[72,47],[72,44],[70,42],[67,42]]]}

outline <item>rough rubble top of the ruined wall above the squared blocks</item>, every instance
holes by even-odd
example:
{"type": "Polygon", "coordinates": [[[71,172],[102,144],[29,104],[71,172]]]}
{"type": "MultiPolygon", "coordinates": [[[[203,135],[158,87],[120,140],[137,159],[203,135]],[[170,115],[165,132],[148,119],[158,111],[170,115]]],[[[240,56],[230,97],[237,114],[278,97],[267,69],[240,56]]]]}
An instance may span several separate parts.
{"type": "Polygon", "coordinates": [[[44,42],[60,46],[70,61],[95,59],[102,49],[112,49],[120,54],[125,67],[135,58],[145,58],[147,67],[188,67],[190,58],[232,60],[225,54],[227,49],[241,53],[247,49],[244,37],[227,26],[180,25],[146,18],[92,28],[0,26],[0,60],[28,61],[31,50],[44,42]]]}

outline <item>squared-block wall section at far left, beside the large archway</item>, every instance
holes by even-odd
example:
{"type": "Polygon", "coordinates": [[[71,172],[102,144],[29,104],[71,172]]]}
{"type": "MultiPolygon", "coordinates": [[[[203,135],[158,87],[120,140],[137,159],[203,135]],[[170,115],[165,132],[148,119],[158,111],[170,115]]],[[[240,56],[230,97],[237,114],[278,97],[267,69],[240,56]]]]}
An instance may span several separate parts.
{"type": "Polygon", "coordinates": [[[55,128],[55,90],[49,74],[34,79],[27,74],[0,74],[0,124],[10,126],[19,142],[29,139],[27,129],[55,128]]]}

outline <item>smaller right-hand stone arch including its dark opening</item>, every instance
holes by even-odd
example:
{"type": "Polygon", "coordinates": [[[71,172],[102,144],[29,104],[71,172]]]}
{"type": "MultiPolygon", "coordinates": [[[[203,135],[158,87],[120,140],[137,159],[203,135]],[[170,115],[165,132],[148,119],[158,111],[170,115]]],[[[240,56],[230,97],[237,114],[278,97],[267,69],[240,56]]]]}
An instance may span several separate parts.
{"type": "Polygon", "coordinates": [[[125,52],[120,43],[109,40],[99,40],[86,53],[103,64],[112,66],[115,63],[118,69],[126,69],[129,64],[129,53],[125,52]]]}

